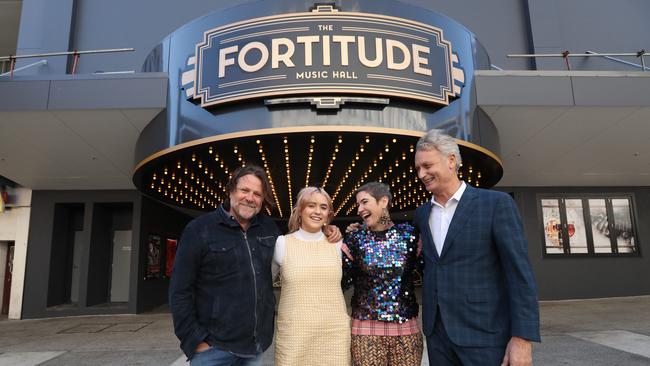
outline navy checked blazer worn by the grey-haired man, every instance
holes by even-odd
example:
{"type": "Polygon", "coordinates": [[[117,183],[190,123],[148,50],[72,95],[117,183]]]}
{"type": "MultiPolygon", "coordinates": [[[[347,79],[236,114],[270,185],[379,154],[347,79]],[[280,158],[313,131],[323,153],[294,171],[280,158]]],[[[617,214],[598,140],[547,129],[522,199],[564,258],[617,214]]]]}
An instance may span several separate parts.
{"type": "Polygon", "coordinates": [[[431,202],[415,211],[422,237],[422,330],[436,307],[461,347],[501,347],[510,337],[540,341],[537,286],[519,212],[506,193],[467,185],[438,256],[429,228],[431,202]]]}

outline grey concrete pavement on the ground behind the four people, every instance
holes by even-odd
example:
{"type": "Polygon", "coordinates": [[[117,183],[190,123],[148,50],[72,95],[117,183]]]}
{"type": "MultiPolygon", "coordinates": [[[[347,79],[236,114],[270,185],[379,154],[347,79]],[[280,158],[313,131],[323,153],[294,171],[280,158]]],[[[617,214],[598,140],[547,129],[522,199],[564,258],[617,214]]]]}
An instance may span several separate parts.
{"type": "MultiPolygon", "coordinates": [[[[650,296],[540,304],[536,365],[650,365],[650,296]]],[[[425,361],[423,365],[428,365],[425,361]]],[[[0,365],[185,365],[169,313],[0,321],[0,365]]],[[[273,365],[273,350],[264,356],[273,365]]]]}

